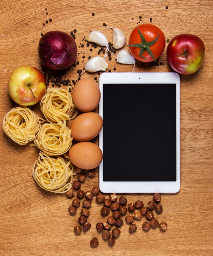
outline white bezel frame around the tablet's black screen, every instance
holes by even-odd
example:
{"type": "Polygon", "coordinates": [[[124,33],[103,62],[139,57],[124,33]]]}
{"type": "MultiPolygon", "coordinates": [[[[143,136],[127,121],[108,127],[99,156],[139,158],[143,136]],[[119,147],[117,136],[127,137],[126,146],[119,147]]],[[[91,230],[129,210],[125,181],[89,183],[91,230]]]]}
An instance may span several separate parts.
{"type": "MultiPolygon", "coordinates": [[[[176,84],[176,182],[106,182],[103,181],[103,161],[99,166],[99,187],[103,193],[177,193],[180,190],[180,76],[173,72],[105,72],[100,75],[101,100],[99,115],[103,117],[103,84],[175,83],[176,84]]],[[[113,89],[113,88],[112,88],[113,89]]],[[[103,127],[104,128],[104,127],[103,127]]],[[[103,152],[103,129],[99,134],[103,152]]],[[[103,152],[104,160],[104,152],[103,152]]],[[[113,168],[113,166],[112,166],[113,168]]],[[[131,170],[130,170],[131,173],[131,170]]]]}

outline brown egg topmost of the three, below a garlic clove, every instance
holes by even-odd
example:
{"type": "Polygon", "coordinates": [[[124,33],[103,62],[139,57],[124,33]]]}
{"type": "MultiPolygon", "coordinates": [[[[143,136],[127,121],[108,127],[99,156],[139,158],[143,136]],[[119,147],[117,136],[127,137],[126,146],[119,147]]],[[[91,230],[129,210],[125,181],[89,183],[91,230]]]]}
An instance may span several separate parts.
{"type": "Polygon", "coordinates": [[[91,112],[97,108],[100,99],[99,86],[89,78],[79,80],[72,91],[73,103],[82,112],[91,112]]]}

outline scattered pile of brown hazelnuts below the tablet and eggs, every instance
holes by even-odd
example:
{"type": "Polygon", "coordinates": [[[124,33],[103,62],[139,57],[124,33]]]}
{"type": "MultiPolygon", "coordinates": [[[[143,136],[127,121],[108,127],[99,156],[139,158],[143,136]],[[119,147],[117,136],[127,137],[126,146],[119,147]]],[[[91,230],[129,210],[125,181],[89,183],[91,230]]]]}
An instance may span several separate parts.
{"type": "MultiPolygon", "coordinates": [[[[78,175],[79,176],[79,175],[78,175]]],[[[110,213],[110,209],[112,209],[112,216],[109,216],[105,223],[98,222],[96,225],[96,229],[99,233],[101,233],[102,238],[104,240],[108,240],[109,246],[113,246],[115,244],[115,239],[120,236],[121,230],[119,227],[123,225],[123,219],[121,216],[126,215],[127,210],[130,213],[133,213],[132,215],[127,215],[125,217],[125,222],[130,225],[129,226],[129,232],[134,233],[137,229],[136,224],[132,224],[134,220],[141,220],[142,216],[145,216],[147,221],[145,221],[142,225],[142,229],[144,231],[149,231],[149,229],[157,228],[159,227],[161,231],[167,230],[167,223],[161,222],[159,224],[158,220],[154,218],[153,210],[155,209],[156,213],[162,213],[162,205],[160,204],[160,194],[155,193],[153,195],[153,201],[149,201],[144,206],[143,202],[141,200],[137,200],[136,202],[131,202],[130,204],[127,204],[127,199],[124,196],[120,196],[119,202],[117,202],[118,197],[116,193],[112,193],[109,195],[109,198],[105,198],[103,194],[100,193],[98,186],[93,186],[90,191],[84,192],[81,187],[81,182],[74,181],[72,183],[73,189],[77,190],[77,198],[74,198],[72,200],[72,205],[68,208],[68,211],[71,215],[75,215],[77,211],[77,207],[80,206],[80,199],[83,199],[81,209],[81,216],[79,216],[78,222],[79,225],[74,227],[74,232],[76,235],[80,235],[82,230],[83,232],[87,232],[91,224],[87,222],[87,217],[90,215],[90,211],[88,208],[91,207],[91,200],[93,196],[96,198],[96,202],[98,204],[103,203],[103,207],[101,208],[101,216],[108,216],[110,213]],[[125,206],[127,205],[127,207],[125,206]],[[110,230],[112,226],[115,225],[116,227],[112,229],[112,236],[110,234],[110,230]]],[[[66,196],[68,198],[74,197],[74,190],[70,189],[66,192],[66,196]]],[[[98,238],[94,237],[90,241],[91,247],[97,247],[99,245],[98,238]]]]}

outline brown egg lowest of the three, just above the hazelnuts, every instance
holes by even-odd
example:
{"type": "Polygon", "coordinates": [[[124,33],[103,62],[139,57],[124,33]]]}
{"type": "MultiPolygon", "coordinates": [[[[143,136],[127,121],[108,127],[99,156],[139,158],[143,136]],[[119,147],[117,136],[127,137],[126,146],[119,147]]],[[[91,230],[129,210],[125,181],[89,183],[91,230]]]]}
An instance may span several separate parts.
{"type": "Polygon", "coordinates": [[[75,166],[90,170],[99,166],[103,154],[96,144],[92,142],[79,142],[70,148],[69,158],[75,166]]]}

